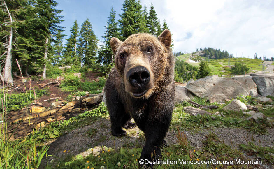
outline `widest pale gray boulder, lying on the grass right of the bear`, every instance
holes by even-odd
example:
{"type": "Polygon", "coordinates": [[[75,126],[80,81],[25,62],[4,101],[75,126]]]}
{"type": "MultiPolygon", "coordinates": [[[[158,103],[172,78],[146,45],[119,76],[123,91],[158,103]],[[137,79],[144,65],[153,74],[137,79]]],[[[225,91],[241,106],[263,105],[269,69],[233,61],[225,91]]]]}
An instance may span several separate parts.
{"type": "Polygon", "coordinates": [[[224,103],[237,96],[256,97],[257,85],[250,77],[221,78],[217,75],[190,80],[186,87],[196,96],[208,98],[210,103],[224,103]]]}

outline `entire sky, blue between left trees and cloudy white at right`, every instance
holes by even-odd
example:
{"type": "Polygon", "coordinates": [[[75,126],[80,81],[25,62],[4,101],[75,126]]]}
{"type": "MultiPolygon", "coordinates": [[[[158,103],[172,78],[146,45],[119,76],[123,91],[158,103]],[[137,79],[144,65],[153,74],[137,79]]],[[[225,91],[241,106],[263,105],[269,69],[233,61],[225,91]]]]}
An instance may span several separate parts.
{"type": "MultiPolygon", "coordinates": [[[[119,18],[124,0],[56,0],[63,10],[65,34],[77,19],[86,18],[101,40],[111,6],[119,18]]],[[[174,52],[193,52],[197,48],[220,48],[234,57],[274,56],[273,0],[141,0],[153,3],[157,17],[165,19],[172,33],[174,52]]],[[[68,38],[68,36],[66,38],[68,38]]],[[[64,43],[66,43],[64,41],[64,43]]]]}

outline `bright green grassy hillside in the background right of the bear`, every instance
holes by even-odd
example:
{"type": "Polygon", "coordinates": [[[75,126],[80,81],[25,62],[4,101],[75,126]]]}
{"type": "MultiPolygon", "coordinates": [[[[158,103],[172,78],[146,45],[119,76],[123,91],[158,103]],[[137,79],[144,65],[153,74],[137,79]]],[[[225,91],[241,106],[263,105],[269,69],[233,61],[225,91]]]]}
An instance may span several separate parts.
{"type": "Polygon", "coordinates": [[[250,68],[250,72],[257,72],[262,71],[262,60],[259,59],[250,59],[250,58],[230,58],[230,66],[229,66],[229,59],[208,59],[202,56],[199,56],[200,53],[188,53],[183,54],[176,59],[183,60],[192,66],[199,67],[199,63],[195,63],[193,61],[201,61],[201,60],[207,60],[208,65],[210,69],[212,70],[212,74],[214,75],[230,75],[231,74],[231,66],[233,66],[235,63],[241,63],[246,65],[248,68],[250,68]]]}

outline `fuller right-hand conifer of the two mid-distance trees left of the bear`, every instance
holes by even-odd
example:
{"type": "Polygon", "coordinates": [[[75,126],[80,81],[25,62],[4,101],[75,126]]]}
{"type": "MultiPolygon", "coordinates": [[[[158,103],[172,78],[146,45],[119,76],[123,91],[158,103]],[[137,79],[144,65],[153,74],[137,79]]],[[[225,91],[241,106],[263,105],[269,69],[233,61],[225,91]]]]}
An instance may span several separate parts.
{"type": "MultiPolygon", "coordinates": [[[[82,28],[79,33],[78,42],[78,56],[85,66],[90,67],[95,63],[96,52],[98,50],[97,44],[98,39],[92,30],[92,24],[87,18],[84,23],[82,23],[82,28]]],[[[78,60],[75,60],[77,62],[78,60]]]]}

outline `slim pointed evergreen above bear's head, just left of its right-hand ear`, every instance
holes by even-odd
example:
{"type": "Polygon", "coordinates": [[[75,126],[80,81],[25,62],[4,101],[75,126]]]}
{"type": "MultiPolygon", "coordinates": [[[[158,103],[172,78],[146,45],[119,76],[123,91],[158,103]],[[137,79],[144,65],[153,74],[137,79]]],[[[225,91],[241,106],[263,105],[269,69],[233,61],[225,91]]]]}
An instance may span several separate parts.
{"type": "Polygon", "coordinates": [[[161,28],[159,28],[160,23],[158,21],[157,14],[154,10],[154,6],[152,5],[152,3],[150,4],[150,10],[149,10],[149,16],[148,16],[147,22],[148,22],[147,24],[148,24],[150,34],[157,36],[158,31],[161,28]]]}

